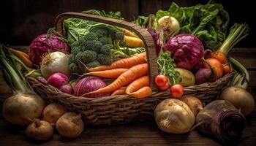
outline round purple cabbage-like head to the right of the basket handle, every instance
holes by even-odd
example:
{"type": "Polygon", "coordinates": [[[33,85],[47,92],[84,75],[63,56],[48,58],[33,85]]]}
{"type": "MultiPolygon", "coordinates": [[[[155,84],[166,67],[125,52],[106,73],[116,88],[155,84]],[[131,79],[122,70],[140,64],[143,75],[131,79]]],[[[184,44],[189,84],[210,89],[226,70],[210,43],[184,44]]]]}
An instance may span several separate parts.
{"type": "Polygon", "coordinates": [[[164,51],[170,51],[176,66],[192,69],[203,58],[203,45],[191,34],[178,34],[171,37],[164,46],[164,51]]]}

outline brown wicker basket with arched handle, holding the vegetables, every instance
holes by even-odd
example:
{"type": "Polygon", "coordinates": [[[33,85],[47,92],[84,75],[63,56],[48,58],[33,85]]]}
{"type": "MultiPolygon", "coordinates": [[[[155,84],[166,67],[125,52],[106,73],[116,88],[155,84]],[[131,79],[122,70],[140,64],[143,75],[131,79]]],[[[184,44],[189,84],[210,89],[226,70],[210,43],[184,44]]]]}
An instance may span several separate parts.
{"type": "MultiPolygon", "coordinates": [[[[140,26],[124,20],[104,18],[78,12],[66,12],[58,15],[55,22],[56,31],[59,31],[63,35],[66,34],[63,28],[63,20],[66,18],[83,18],[100,23],[108,23],[113,26],[127,28],[134,31],[135,34],[138,34],[140,39],[143,39],[146,47],[148,77],[150,77],[150,85],[154,92],[152,96],[146,99],[135,99],[128,95],[106,96],[94,99],[62,93],[53,86],[44,85],[33,77],[29,77],[28,81],[34,91],[50,102],[58,102],[67,107],[68,110],[80,112],[83,115],[84,122],[93,126],[107,126],[152,120],[152,116],[154,116],[154,107],[157,106],[159,101],[170,98],[170,93],[158,92],[157,86],[154,85],[154,77],[157,76],[158,69],[156,60],[157,55],[155,53],[154,41],[151,34],[149,34],[145,28],[141,28],[140,26]]],[[[197,96],[203,103],[213,101],[217,98],[217,94],[222,91],[222,88],[225,88],[225,86],[228,85],[232,77],[233,72],[230,72],[215,82],[207,82],[201,85],[186,87],[184,88],[184,94],[197,96]]]]}

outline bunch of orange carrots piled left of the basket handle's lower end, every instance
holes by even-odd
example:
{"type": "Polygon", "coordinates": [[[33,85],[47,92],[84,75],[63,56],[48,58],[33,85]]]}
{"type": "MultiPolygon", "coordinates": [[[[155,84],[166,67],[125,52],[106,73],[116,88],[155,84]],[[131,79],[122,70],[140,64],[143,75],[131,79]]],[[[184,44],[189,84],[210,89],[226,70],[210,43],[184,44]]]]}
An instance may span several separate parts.
{"type": "Polygon", "coordinates": [[[151,96],[152,91],[149,87],[147,76],[148,64],[146,64],[145,58],[146,53],[140,53],[139,55],[130,58],[115,61],[110,66],[98,66],[91,69],[86,67],[89,73],[84,75],[116,79],[105,88],[99,88],[97,91],[92,91],[90,93],[112,92],[112,95],[127,93],[137,99],[151,96]]]}

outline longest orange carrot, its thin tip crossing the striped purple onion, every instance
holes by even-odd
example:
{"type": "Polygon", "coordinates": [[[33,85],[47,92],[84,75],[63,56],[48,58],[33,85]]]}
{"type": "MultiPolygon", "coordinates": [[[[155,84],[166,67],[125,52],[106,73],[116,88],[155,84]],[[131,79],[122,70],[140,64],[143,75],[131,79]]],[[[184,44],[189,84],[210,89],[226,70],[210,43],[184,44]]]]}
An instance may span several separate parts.
{"type": "Polygon", "coordinates": [[[110,85],[89,93],[105,93],[116,91],[118,88],[124,87],[124,85],[128,85],[130,82],[138,79],[139,77],[142,77],[143,75],[146,75],[147,73],[148,64],[139,64],[137,66],[133,66],[132,68],[128,69],[127,72],[124,72],[118,78],[116,78],[116,80],[110,83],[110,85]]]}

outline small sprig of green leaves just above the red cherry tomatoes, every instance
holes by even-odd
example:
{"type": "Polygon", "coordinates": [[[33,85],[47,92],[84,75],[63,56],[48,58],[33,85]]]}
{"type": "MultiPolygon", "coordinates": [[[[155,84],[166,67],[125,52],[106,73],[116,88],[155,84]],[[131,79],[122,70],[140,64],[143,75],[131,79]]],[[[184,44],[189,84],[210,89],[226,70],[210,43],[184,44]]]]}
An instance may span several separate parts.
{"type": "Polygon", "coordinates": [[[173,85],[181,82],[181,77],[179,72],[175,70],[176,64],[170,55],[171,53],[169,51],[160,53],[157,58],[157,64],[159,74],[165,75],[168,78],[169,84],[173,85]]]}

